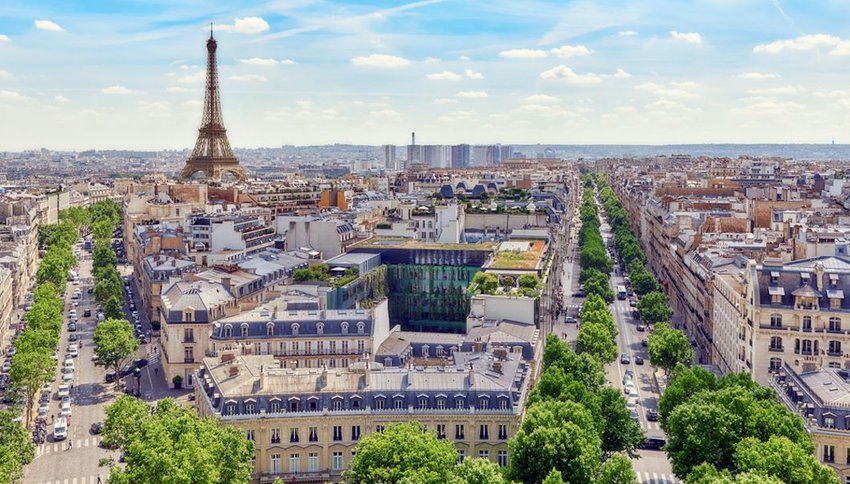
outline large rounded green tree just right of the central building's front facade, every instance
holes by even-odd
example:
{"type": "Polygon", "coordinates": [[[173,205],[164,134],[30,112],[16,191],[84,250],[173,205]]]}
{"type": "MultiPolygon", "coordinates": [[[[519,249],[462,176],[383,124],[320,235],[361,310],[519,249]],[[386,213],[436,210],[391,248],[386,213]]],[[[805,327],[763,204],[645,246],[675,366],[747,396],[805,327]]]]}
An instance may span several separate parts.
{"type": "Polygon", "coordinates": [[[508,445],[512,478],[522,482],[540,482],[552,469],[567,482],[591,482],[602,454],[593,417],[574,402],[532,405],[508,445]]]}

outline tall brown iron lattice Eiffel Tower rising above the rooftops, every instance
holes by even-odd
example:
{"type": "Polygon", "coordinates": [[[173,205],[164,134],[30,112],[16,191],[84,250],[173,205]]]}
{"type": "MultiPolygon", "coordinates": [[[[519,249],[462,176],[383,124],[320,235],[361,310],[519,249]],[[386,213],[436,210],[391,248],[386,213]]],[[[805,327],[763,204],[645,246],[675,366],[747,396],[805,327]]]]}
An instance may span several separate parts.
{"type": "Polygon", "coordinates": [[[191,156],[186,160],[186,166],[180,173],[180,178],[189,178],[199,171],[206,174],[209,180],[220,180],[225,173],[231,173],[245,181],[248,176],[245,169],[239,165],[239,160],[233,156],[230,142],[227,140],[227,130],[221,118],[221,100],[218,97],[218,66],[215,50],[218,47],[213,37],[210,24],[210,38],[207,40],[207,85],[204,94],[204,117],[198,129],[198,141],[191,156]]]}

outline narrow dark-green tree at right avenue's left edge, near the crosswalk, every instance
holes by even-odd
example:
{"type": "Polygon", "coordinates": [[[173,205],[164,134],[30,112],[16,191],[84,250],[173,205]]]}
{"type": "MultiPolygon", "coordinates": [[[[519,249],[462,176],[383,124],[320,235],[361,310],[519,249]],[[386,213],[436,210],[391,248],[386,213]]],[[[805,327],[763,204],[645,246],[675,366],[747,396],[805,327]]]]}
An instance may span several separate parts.
{"type": "Polygon", "coordinates": [[[602,431],[602,458],[608,459],[615,452],[625,452],[630,457],[637,455],[646,436],[640,424],[632,420],[626,407],[626,399],[616,388],[605,387],[599,391],[599,418],[602,431]]]}

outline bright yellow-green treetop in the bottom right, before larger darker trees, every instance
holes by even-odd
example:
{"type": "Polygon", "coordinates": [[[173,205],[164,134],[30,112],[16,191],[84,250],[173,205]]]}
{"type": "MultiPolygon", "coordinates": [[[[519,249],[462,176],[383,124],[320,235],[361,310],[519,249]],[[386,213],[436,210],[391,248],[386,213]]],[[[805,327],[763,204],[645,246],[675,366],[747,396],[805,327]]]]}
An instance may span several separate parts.
{"type": "Polygon", "coordinates": [[[734,459],[741,472],[775,477],[786,484],[839,484],[832,469],[787,437],[771,436],[766,442],[745,438],[738,443],[734,459]]]}

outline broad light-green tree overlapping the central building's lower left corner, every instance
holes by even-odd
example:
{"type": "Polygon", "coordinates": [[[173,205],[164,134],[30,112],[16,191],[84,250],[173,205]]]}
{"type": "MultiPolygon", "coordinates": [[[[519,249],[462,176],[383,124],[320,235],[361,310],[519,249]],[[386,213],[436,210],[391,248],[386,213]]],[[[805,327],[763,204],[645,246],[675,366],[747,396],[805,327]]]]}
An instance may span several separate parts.
{"type": "MultiPolygon", "coordinates": [[[[121,398],[132,398],[124,397],[121,398]]],[[[152,412],[134,417],[141,421],[124,434],[121,446],[125,468],[112,467],[110,483],[151,484],[217,482],[237,484],[251,479],[254,443],[242,430],[200,418],[194,409],[170,398],[160,400],[152,412]]],[[[110,415],[107,412],[109,426],[110,415]]]]}

